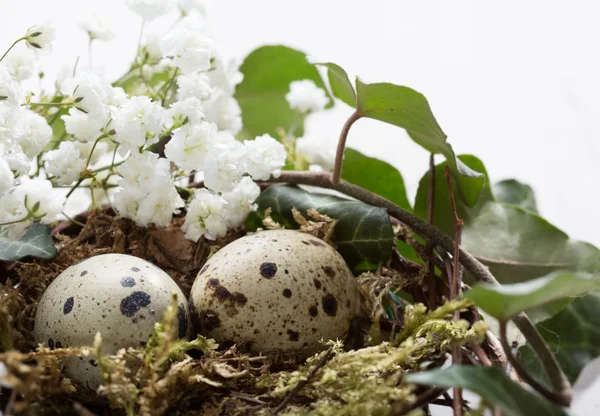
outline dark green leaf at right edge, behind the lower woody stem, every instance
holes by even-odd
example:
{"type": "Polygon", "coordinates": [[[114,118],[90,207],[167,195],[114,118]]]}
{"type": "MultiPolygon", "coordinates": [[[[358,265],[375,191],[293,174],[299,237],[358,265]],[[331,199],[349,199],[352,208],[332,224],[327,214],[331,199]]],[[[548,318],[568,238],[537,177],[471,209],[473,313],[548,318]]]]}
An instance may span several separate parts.
{"type": "MultiPolygon", "coordinates": [[[[569,381],[575,383],[583,367],[600,356],[600,294],[577,298],[536,326],[569,381]]],[[[546,373],[528,345],[519,348],[519,356],[530,374],[548,384],[546,373]]]]}

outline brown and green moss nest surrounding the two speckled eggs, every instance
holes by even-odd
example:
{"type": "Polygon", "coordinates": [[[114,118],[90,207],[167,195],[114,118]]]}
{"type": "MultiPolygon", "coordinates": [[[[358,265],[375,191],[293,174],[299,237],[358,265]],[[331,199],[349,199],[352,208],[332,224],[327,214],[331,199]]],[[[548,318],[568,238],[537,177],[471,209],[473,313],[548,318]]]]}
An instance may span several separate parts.
{"type": "Polygon", "coordinates": [[[440,366],[452,347],[479,342],[485,332],[481,321],[472,324],[466,301],[428,311],[418,303],[425,299],[423,273],[392,259],[358,277],[363,313],[349,336],[324,342],[322,352],[306,361],[250,355],[201,335],[180,340],[175,304],[144,346],[105,355],[97,336],[94,345],[50,350],[34,341],[37,303],[73,263],[105,253],[141,257],[166,271],[188,296],[207,258],[245,235],[235,230],[214,242],[193,243],[184,238],[180,218],[166,229],[142,228],[111,210],[78,220],[85,226],[69,222],[53,230],[53,260],[0,264],[0,403],[6,414],[420,414],[429,388],[405,384],[403,375],[440,366]],[[416,302],[390,296],[398,289],[416,302]],[[465,319],[453,320],[455,312],[465,319]],[[104,384],[96,393],[63,374],[69,356],[98,362],[104,384]]]}

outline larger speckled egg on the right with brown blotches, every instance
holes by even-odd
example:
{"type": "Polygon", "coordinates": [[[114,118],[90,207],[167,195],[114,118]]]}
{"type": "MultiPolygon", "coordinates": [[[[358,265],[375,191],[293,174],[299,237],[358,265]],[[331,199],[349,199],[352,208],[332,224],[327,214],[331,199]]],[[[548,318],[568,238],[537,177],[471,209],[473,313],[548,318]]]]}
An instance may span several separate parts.
{"type": "Polygon", "coordinates": [[[356,279],[323,240],[293,230],[262,231],[214,254],[190,295],[196,329],[253,353],[305,358],[319,340],[343,338],[358,313],[356,279]]]}

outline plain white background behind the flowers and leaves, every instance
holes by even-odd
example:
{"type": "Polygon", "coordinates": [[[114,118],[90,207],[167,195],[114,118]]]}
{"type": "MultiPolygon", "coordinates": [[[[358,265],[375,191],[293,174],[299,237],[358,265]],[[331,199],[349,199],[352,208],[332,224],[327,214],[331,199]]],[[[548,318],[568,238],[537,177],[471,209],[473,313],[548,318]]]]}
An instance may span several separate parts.
{"type": "MultiPolygon", "coordinates": [[[[457,153],[480,157],[493,180],[531,184],[545,218],[600,245],[599,3],[213,0],[208,6],[225,56],[243,58],[259,45],[283,43],[365,81],[422,92],[457,153]]],[[[49,62],[72,65],[78,55],[86,62],[86,37],[77,28],[86,12],[117,29],[116,40],[98,42],[93,55],[116,79],[133,57],[140,27],[122,0],[0,0],[0,50],[51,19],[58,36],[49,62]]],[[[169,18],[148,29],[165,31],[169,18]]],[[[349,114],[340,103],[313,117],[309,133],[334,139],[349,114]]],[[[349,145],[398,167],[414,198],[428,154],[402,130],[363,119],[349,145]]]]}

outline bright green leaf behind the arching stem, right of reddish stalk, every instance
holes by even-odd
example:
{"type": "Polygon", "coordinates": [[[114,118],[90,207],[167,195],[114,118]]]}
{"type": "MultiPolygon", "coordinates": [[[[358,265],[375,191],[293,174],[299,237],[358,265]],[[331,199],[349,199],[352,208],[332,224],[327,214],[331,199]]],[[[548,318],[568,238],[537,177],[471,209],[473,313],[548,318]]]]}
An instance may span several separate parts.
{"type": "Polygon", "coordinates": [[[404,179],[389,163],[347,148],[344,152],[342,179],[380,195],[407,211],[412,211],[406,196],[404,179]]]}

